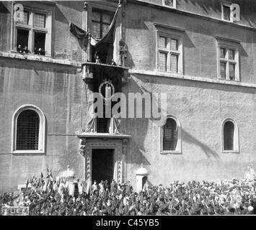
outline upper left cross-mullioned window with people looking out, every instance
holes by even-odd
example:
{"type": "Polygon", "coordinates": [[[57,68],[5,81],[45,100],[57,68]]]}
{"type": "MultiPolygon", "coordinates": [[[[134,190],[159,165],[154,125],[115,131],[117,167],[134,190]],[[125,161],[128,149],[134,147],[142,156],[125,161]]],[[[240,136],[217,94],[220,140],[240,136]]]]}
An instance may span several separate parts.
{"type": "Polygon", "coordinates": [[[17,52],[51,55],[51,10],[25,6],[22,20],[14,20],[12,48],[17,52]]]}

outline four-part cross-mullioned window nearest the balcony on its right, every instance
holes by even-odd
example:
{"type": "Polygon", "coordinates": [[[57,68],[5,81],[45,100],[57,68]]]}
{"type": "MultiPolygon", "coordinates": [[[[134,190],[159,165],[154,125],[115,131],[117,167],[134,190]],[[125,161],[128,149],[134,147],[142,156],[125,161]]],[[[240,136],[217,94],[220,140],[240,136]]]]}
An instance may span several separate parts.
{"type": "Polygon", "coordinates": [[[158,70],[182,73],[182,42],[174,37],[158,36],[158,70]]]}

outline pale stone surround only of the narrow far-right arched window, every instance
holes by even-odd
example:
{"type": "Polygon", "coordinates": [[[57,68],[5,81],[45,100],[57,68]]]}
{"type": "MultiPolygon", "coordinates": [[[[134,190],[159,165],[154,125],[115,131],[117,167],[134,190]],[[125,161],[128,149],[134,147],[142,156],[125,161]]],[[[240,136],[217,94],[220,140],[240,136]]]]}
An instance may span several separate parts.
{"type": "Polygon", "coordinates": [[[222,153],[239,153],[239,129],[237,122],[234,119],[224,119],[221,124],[221,152],[222,153]],[[233,150],[224,150],[224,124],[227,121],[231,121],[234,124],[234,140],[233,140],[233,150]]]}

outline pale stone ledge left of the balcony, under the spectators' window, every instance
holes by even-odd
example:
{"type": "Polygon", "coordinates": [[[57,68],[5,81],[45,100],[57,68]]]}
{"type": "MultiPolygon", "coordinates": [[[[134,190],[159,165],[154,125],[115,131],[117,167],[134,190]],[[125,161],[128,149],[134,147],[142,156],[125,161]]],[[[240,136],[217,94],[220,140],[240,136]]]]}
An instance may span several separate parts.
{"type": "Polygon", "coordinates": [[[81,63],[79,62],[72,62],[69,60],[58,60],[58,59],[54,59],[53,57],[47,57],[47,56],[41,56],[41,55],[27,55],[27,54],[20,54],[18,52],[0,52],[0,57],[15,58],[19,60],[32,60],[32,61],[43,62],[43,63],[72,65],[74,67],[81,68],[81,63]]]}

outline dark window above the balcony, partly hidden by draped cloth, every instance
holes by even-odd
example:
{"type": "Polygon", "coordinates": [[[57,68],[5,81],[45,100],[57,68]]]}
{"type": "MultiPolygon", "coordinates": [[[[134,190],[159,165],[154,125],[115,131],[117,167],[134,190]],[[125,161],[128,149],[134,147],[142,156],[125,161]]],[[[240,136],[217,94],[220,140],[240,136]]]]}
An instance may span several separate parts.
{"type": "Polygon", "coordinates": [[[113,12],[92,9],[92,35],[98,39],[104,37],[113,17],[113,12]]]}

